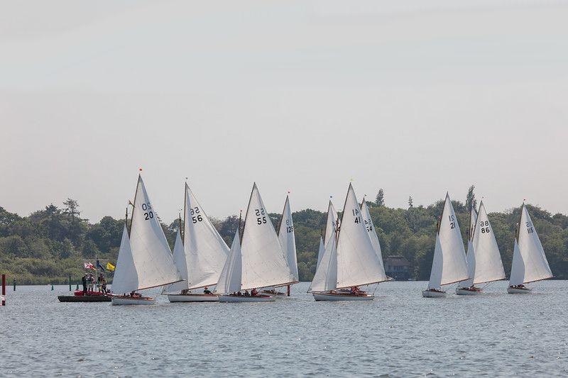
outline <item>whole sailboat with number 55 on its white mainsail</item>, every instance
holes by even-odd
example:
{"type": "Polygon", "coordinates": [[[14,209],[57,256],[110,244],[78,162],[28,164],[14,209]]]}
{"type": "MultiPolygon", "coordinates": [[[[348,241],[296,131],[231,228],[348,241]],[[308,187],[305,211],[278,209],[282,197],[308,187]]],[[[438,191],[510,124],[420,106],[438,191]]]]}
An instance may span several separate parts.
{"type": "Polygon", "coordinates": [[[241,237],[237,231],[215,291],[222,294],[219,296],[221,302],[266,302],[274,301],[274,296],[257,294],[257,289],[288,284],[297,284],[297,279],[288,267],[285,252],[255,183],[241,237]]]}

